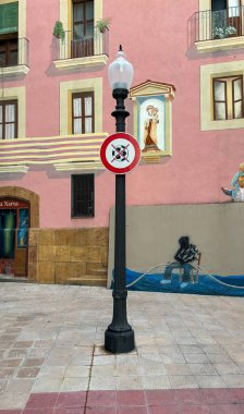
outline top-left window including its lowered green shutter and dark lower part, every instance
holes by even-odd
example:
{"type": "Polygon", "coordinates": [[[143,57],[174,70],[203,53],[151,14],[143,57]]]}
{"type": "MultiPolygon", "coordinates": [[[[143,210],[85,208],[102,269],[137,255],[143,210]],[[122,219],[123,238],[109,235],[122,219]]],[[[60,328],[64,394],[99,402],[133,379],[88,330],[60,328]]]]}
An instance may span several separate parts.
{"type": "Polygon", "coordinates": [[[19,3],[0,4],[0,65],[17,64],[19,3]]]}

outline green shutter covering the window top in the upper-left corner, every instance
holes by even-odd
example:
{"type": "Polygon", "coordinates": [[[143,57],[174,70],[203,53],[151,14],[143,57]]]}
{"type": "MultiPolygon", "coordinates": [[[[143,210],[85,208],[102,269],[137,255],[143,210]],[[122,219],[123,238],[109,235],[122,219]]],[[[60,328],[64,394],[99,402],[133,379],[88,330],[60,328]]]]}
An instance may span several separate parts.
{"type": "Polygon", "coordinates": [[[19,3],[0,4],[0,35],[17,32],[19,3]]]}

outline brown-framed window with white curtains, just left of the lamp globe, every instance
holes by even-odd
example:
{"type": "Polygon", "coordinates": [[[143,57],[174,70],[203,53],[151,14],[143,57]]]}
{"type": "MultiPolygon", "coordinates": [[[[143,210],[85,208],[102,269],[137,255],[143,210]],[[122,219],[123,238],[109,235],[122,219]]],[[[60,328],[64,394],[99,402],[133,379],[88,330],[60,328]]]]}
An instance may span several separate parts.
{"type": "Polygon", "coordinates": [[[94,93],[72,95],[72,133],[89,134],[94,132],[94,93]]]}

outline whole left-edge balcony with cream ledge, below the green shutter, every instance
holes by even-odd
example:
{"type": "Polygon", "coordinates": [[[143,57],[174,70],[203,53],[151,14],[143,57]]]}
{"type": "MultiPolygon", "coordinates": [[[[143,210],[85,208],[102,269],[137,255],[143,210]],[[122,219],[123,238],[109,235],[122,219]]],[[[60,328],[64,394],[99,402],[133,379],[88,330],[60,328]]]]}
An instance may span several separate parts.
{"type": "Polygon", "coordinates": [[[1,75],[23,76],[29,71],[29,41],[26,38],[5,38],[0,40],[1,75]]]}

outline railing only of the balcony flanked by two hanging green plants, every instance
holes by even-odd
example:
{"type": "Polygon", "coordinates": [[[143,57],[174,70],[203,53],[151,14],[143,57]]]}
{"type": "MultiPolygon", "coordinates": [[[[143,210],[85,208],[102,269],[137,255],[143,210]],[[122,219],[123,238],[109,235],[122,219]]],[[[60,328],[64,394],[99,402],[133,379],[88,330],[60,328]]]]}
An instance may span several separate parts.
{"type": "Polygon", "coordinates": [[[59,39],[53,36],[53,60],[66,60],[76,58],[87,58],[109,52],[109,31],[100,33],[94,29],[94,37],[74,39],[72,32],[65,32],[64,38],[59,39]]]}

